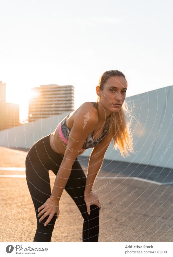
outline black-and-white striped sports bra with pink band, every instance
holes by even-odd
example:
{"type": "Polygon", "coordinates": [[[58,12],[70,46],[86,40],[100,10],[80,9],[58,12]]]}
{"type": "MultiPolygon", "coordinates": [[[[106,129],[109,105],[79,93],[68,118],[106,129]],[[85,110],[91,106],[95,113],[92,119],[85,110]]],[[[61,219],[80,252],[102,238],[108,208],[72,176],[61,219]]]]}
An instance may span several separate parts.
{"type": "MultiPolygon", "coordinates": [[[[98,110],[98,103],[97,102],[91,102],[94,107],[98,110]]],[[[68,137],[70,134],[71,129],[67,127],[66,120],[70,114],[68,114],[59,124],[58,124],[58,132],[62,140],[67,144],[68,143],[68,137]]],[[[82,150],[86,150],[87,148],[92,148],[97,146],[101,140],[105,137],[105,135],[108,133],[108,127],[109,127],[109,118],[110,115],[107,117],[104,129],[101,133],[101,135],[94,139],[94,132],[95,130],[87,137],[85,140],[85,143],[82,146],[82,150]]]]}

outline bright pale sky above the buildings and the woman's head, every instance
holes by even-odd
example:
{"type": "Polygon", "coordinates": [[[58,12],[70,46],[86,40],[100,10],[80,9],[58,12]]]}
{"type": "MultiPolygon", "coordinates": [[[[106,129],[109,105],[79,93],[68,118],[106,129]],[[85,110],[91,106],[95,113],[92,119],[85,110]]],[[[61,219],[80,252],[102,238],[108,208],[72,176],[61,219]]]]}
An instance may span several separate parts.
{"type": "Polygon", "coordinates": [[[126,97],[173,85],[173,2],[0,0],[0,81],[25,120],[31,87],[73,85],[75,109],[119,70],[126,97]]]}

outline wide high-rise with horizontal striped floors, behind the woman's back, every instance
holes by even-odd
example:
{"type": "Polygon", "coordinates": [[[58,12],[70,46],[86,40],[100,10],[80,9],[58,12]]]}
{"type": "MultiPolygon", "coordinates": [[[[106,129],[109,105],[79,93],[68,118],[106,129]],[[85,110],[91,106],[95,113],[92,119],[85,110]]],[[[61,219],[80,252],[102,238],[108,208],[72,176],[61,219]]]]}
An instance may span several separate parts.
{"type": "Polygon", "coordinates": [[[74,87],[56,84],[32,88],[33,97],[29,101],[28,121],[58,115],[74,110],[74,87]]]}

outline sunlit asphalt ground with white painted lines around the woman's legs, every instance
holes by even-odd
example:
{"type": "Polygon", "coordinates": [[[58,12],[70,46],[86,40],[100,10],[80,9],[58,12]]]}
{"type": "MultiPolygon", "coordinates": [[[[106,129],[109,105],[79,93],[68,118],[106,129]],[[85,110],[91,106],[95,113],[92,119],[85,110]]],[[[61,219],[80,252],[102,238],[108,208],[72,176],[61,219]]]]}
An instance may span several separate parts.
{"type": "MultiPolygon", "coordinates": [[[[24,149],[0,147],[0,242],[33,242],[36,216],[26,155],[24,149]]],[[[78,160],[87,174],[88,159],[78,160]]],[[[52,189],[55,175],[49,174],[52,189]]],[[[98,242],[172,242],[172,176],[171,169],[104,160],[93,186],[101,203],[98,242]]],[[[82,242],[82,226],[82,215],[64,190],[51,242],[82,242]]]]}

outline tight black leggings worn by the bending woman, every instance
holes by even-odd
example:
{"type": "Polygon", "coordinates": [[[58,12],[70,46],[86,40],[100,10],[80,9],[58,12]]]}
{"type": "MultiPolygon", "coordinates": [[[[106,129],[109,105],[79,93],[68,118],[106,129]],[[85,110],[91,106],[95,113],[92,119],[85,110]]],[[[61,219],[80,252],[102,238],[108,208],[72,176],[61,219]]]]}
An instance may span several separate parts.
{"type": "MultiPolygon", "coordinates": [[[[26,180],[30,191],[32,201],[35,207],[37,218],[37,230],[33,242],[51,242],[52,232],[56,221],[56,213],[44,226],[48,216],[41,222],[38,218],[38,208],[46,202],[51,195],[50,178],[48,170],[52,170],[57,175],[64,155],[56,153],[49,143],[49,136],[42,137],[28,151],[26,165],[26,180]]],[[[83,222],[82,239],[83,242],[98,242],[99,234],[99,208],[92,204],[90,206],[90,215],[87,213],[86,203],[84,201],[84,190],[86,176],[78,159],[75,159],[65,190],[72,197],[78,206],[83,222]]]]}

